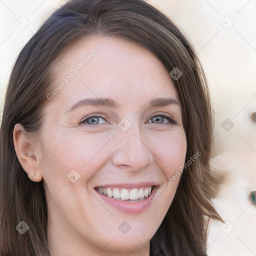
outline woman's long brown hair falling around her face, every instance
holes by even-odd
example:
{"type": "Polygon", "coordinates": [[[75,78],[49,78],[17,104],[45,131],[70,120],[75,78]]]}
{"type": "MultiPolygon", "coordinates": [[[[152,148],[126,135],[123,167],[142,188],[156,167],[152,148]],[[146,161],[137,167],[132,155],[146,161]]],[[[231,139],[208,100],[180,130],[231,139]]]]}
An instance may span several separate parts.
{"type": "Polygon", "coordinates": [[[36,136],[50,92],[51,66],[78,38],[102,34],[132,40],[151,50],[170,72],[183,108],[186,161],[174,199],[150,240],[150,255],[206,255],[207,221],[221,220],[211,198],[218,183],[209,166],[212,116],[206,79],[195,51],[180,29],[142,0],[71,0],[57,9],[23,47],[7,87],[0,128],[0,255],[49,255],[47,203],[42,181],[22,169],[13,145],[13,127],[36,136]],[[23,235],[15,226],[23,220],[23,235]]]}

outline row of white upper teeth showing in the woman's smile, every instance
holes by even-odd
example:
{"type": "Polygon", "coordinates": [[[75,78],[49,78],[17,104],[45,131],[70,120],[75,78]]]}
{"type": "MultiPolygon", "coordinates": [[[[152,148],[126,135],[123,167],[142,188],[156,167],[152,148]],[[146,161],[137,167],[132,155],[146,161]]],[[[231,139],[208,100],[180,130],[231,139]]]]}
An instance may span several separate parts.
{"type": "Polygon", "coordinates": [[[137,200],[147,197],[151,193],[152,186],[140,187],[140,188],[110,188],[110,187],[98,187],[98,191],[101,194],[107,195],[108,197],[114,197],[115,199],[121,200],[137,200]]]}

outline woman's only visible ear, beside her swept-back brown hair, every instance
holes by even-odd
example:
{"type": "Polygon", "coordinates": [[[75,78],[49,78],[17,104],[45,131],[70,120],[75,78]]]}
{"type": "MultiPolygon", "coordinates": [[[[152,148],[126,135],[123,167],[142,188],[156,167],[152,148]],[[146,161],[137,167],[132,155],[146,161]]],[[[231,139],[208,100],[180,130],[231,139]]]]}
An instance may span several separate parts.
{"type": "Polygon", "coordinates": [[[13,129],[13,143],[17,158],[27,173],[28,177],[35,182],[42,180],[38,157],[36,157],[36,139],[26,132],[20,123],[16,123],[13,129]]]}

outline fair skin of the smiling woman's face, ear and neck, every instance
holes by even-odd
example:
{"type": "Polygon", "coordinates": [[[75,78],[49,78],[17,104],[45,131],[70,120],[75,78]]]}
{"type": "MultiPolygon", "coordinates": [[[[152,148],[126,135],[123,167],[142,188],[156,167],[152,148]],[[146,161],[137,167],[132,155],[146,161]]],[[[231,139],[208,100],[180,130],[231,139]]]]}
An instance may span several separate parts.
{"type": "Polygon", "coordinates": [[[168,71],[153,53],[125,39],[99,35],[82,38],[61,54],[50,91],[94,48],[99,51],[95,57],[47,99],[38,135],[15,125],[16,154],[31,180],[43,180],[51,256],[148,256],[149,240],[180,177],[153,202],[149,196],[139,201],[110,198],[98,187],[129,193],[152,185],[153,195],[185,161],[181,104],[168,71]],[[79,100],[101,97],[119,107],[80,104],[69,111],[79,100]],[[172,101],[149,106],[161,97],[172,101]],[[80,123],[89,114],[102,117],[80,123]],[[123,118],[128,120],[121,122],[125,131],[118,126],[123,118]],[[72,169],[71,179],[80,175],[74,183],[67,178],[72,169]]]}

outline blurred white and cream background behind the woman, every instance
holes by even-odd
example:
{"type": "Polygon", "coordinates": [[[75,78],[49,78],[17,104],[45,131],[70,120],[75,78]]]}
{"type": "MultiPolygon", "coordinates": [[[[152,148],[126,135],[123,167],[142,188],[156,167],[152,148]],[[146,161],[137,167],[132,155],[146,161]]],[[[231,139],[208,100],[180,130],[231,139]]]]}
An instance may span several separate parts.
{"type": "MultiPolygon", "coordinates": [[[[18,53],[64,0],[0,0],[0,110],[18,53]]],[[[213,203],[208,254],[256,255],[256,0],[148,0],[190,39],[204,68],[214,113],[214,159],[227,178],[213,203]]],[[[1,111],[0,111],[1,115],[1,111]]]]}

